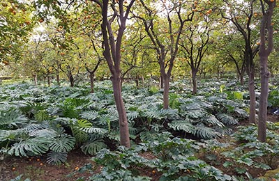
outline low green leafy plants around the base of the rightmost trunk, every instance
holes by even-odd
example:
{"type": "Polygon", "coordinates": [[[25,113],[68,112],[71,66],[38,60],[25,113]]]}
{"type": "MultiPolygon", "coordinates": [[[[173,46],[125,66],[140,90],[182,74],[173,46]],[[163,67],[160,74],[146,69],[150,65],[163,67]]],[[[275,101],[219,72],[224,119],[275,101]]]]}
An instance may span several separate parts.
{"type": "MultiPolygon", "coordinates": [[[[268,123],[268,127],[277,127],[274,123],[268,123]]],[[[267,142],[257,140],[257,127],[239,127],[239,131],[234,134],[236,141],[243,143],[234,150],[223,152],[225,157],[231,161],[225,162],[224,166],[236,165],[236,172],[246,173],[245,166],[255,166],[256,168],[270,169],[274,167],[274,159],[279,158],[279,134],[271,129],[266,132],[267,142]],[[260,159],[260,160],[259,160],[260,159]]]]}

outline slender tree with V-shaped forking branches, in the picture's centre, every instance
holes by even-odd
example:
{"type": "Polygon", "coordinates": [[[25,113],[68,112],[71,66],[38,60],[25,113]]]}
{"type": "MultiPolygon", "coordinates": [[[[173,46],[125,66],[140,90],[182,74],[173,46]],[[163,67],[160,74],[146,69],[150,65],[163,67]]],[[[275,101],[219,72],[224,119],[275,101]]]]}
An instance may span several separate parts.
{"type": "Polygon", "coordinates": [[[169,108],[169,81],[174,67],[174,60],[179,50],[179,40],[185,22],[192,21],[192,6],[182,1],[142,1],[143,12],[134,16],[142,20],[153,49],[156,50],[160,65],[160,77],[163,79],[163,108],[169,108]],[[161,10],[156,9],[162,6],[161,10]],[[188,8],[188,9],[187,9],[188,8]],[[164,17],[165,16],[165,17],[164,17]],[[160,22],[160,23],[159,23],[160,22]],[[167,27],[167,28],[166,28],[167,27]],[[163,33],[164,32],[164,33],[163,33]]]}

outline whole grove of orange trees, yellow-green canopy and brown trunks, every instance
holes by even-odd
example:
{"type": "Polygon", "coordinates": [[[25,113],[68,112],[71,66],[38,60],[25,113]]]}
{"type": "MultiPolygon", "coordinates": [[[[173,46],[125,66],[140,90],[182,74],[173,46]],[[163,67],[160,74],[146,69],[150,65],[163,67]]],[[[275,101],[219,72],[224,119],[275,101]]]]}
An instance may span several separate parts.
{"type": "Polygon", "coordinates": [[[121,145],[131,145],[126,82],[158,88],[167,111],[172,82],[190,78],[198,95],[198,79],[215,77],[247,87],[249,122],[266,141],[269,77],[279,70],[276,0],[3,0],[0,8],[1,68],[34,84],[87,82],[91,93],[110,79],[121,145]]]}

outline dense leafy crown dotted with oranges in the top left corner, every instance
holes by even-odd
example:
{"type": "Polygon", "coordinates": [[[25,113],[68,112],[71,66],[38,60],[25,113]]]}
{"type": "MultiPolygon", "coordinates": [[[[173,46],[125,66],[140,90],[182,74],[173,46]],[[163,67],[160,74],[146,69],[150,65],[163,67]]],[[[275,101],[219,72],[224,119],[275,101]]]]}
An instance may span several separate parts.
{"type": "Polygon", "coordinates": [[[29,4],[3,0],[0,3],[0,61],[8,64],[22,58],[22,46],[35,24],[29,4]]]}

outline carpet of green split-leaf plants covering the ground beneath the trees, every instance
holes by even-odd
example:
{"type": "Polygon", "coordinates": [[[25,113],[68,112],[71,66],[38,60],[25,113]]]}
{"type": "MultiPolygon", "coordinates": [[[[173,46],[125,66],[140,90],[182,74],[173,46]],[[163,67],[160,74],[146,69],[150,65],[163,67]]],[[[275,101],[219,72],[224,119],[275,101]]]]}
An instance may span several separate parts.
{"type": "MultiPolygon", "coordinates": [[[[1,157],[47,155],[49,164],[61,164],[70,150],[80,149],[95,156],[96,163],[80,168],[92,171],[91,178],[80,180],[151,180],[141,169],[160,173],[160,180],[260,180],[252,178],[250,168],[277,168],[279,124],[269,123],[267,143],[257,141],[255,125],[234,132],[248,118],[245,87],[234,81],[204,82],[195,96],[186,81],[171,87],[164,110],[156,87],[123,85],[132,140],[126,149],[119,147],[110,81],[98,82],[93,94],[86,85],[1,86],[1,157]],[[144,157],[146,152],[153,157],[144,157]],[[234,169],[229,174],[220,167],[234,169]]],[[[279,91],[271,88],[269,105],[278,107],[279,91]]]]}

